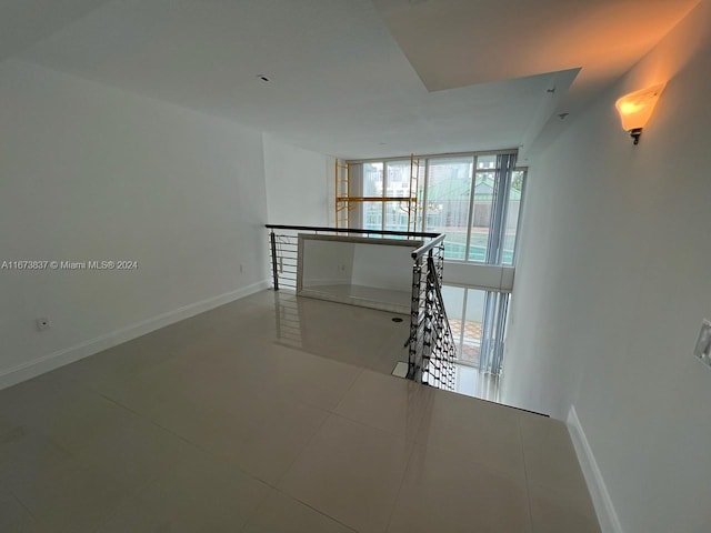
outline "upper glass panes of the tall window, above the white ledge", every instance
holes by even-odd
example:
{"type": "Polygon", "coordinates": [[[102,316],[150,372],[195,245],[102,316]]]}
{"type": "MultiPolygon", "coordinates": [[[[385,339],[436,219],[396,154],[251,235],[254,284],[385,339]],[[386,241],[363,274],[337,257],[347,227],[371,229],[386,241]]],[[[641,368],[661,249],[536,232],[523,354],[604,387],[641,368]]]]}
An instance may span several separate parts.
{"type": "Polygon", "coordinates": [[[354,188],[365,199],[353,218],[358,225],[407,230],[415,220],[418,230],[447,234],[445,259],[513,264],[525,178],[515,152],[431,155],[419,158],[417,169],[409,158],[351,165],[361,177],[354,188]],[[417,202],[388,201],[410,194],[413,174],[417,202]]]}

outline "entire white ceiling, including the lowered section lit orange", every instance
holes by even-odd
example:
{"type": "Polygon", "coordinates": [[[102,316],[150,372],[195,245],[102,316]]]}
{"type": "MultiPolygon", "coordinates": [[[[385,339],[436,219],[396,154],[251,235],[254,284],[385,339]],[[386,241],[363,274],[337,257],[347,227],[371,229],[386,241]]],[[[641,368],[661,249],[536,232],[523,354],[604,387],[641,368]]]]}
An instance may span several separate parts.
{"type": "Polygon", "coordinates": [[[530,143],[698,1],[0,0],[0,59],[339,157],[487,150],[530,143]]]}

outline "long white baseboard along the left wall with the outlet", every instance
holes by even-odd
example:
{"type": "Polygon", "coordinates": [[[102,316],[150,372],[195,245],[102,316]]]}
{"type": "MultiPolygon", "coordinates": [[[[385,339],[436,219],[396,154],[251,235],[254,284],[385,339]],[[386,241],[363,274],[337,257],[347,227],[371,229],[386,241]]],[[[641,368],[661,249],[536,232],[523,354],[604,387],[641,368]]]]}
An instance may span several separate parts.
{"type": "Polygon", "coordinates": [[[267,280],[252,283],[251,285],[243,286],[236,291],[183,305],[94,339],[80,342],[73,346],[64,348],[33,359],[32,361],[2,370],[0,371],[0,390],[43,374],[44,372],[58,369],[59,366],[73,363],[74,361],[79,361],[80,359],[93,355],[94,353],[99,353],[103,350],[108,350],[117,344],[144,335],[174,322],[189,319],[196,314],[203,313],[213,308],[239,300],[240,298],[249,296],[250,294],[268,289],[269,286],[270,282],[267,280]]]}

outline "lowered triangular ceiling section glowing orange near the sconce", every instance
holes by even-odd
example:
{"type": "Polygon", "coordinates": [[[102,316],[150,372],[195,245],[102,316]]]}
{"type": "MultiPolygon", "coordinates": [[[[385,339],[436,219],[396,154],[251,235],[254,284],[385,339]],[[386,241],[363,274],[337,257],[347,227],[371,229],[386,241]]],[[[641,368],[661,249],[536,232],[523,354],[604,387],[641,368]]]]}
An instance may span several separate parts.
{"type": "Polygon", "coordinates": [[[374,0],[430,91],[582,67],[620,76],[699,0],[374,0]]]}

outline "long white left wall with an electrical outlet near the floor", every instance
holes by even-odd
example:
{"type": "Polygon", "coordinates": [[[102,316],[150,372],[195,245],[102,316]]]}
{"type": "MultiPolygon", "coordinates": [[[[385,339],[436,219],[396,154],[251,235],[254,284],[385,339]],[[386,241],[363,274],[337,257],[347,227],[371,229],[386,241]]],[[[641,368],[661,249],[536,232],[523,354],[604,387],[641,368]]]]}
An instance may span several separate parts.
{"type": "Polygon", "coordinates": [[[0,124],[0,261],[138,261],[0,270],[0,385],[266,286],[261,133],[19,61],[0,124]]]}

